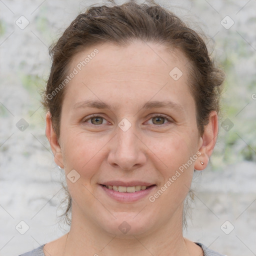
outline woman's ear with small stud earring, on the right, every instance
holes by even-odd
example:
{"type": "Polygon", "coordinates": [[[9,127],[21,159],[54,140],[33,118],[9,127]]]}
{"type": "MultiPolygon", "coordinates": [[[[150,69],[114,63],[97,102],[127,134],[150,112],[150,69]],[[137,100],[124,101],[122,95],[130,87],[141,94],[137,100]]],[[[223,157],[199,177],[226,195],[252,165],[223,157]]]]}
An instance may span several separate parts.
{"type": "Polygon", "coordinates": [[[194,168],[196,170],[203,170],[212,154],[218,134],[218,115],[216,111],[211,111],[209,115],[209,122],[204,126],[204,132],[200,137],[199,149],[200,156],[195,161],[194,168]]]}

